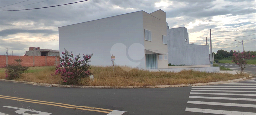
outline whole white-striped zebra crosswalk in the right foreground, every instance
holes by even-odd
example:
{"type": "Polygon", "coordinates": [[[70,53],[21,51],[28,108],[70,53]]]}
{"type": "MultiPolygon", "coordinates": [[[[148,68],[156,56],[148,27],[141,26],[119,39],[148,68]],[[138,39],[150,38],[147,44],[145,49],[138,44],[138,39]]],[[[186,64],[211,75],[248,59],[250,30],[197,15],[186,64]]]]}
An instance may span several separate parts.
{"type": "Polygon", "coordinates": [[[193,112],[189,114],[201,112],[256,115],[255,83],[256,81],[251,79],[218,85],[193,86],[185,111],[193,112]]]}

